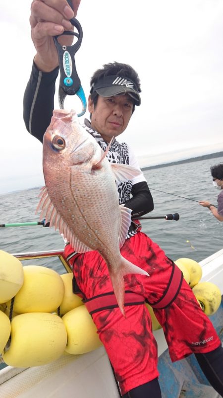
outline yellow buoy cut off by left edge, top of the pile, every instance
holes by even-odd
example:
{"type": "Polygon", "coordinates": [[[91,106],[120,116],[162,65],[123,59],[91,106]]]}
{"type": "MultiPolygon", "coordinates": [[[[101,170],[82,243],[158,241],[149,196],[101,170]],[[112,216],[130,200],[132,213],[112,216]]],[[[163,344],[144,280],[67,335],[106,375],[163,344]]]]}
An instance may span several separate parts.
{"type": "Polygon", "coordinates": [[[21,261],[13,255],[0,250],[0,303],[11,300],[23,284],[21,261]]]}

